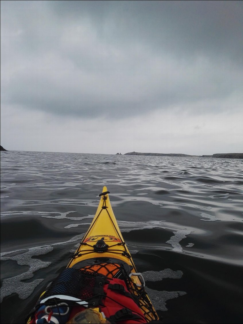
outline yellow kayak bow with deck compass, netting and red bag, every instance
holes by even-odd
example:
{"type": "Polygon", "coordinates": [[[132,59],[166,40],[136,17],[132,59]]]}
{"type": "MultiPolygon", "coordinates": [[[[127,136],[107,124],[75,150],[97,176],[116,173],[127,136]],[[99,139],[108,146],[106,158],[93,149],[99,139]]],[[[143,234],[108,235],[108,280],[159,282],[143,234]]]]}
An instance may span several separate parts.
{"type": "Polygon", "coordinates": [[[145,292],[103,187],[95,217],[67,268],[41,295],[27,323],[148,323],[145,292]]]}

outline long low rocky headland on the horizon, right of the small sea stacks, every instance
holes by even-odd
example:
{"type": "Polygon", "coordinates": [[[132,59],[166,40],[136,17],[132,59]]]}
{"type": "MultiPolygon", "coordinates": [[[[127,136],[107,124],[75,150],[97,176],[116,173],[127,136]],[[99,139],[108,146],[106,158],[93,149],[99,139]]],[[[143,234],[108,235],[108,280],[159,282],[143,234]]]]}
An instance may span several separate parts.
{"type": "Polygon", "coordinates": [[[149,155],[149,156],[192,156],[192,157],[221,157],[229,159],[243,159],[243,153],[216,153],[213,155],[188,155],[181,153],[140,153],[140,152],[129,152],[124,155],[149,155]]]}

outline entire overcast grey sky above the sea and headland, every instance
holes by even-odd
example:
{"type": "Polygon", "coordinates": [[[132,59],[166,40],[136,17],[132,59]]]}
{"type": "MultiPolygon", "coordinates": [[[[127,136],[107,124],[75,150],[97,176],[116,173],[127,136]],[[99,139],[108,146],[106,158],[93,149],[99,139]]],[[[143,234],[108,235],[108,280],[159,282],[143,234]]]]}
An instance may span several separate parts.
{"type": "Polygon", "coordinates": [[[1,1],[7,150],[243,152],[243,1],[1,1]]]}

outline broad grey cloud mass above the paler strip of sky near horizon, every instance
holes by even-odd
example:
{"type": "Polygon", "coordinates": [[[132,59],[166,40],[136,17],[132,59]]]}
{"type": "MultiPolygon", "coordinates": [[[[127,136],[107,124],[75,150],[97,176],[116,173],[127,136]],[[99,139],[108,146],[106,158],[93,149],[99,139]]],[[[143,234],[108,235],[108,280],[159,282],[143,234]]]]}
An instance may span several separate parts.
{"type": "Polygon", "coordinates": [[[83,117],[175,106],[221,111],[230,97],[237,110],[242,8],[241,1],[3,1],[2,100],[83,117]]]}

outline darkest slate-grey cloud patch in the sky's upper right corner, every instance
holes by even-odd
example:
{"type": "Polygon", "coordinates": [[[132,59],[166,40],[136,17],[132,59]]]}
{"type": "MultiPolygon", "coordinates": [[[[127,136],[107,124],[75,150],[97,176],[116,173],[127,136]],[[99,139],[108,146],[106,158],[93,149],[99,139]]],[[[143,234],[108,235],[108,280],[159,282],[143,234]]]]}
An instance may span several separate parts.
{"type": "Polygon", "coordinates": [[[99,36],[144,41],[153,51],[243,61],[242,1],[52,1],[60,17],[88,17],[99,36]],[[179,51],[179,52],[178,52],[179,51]]]}

